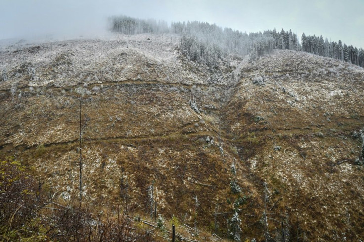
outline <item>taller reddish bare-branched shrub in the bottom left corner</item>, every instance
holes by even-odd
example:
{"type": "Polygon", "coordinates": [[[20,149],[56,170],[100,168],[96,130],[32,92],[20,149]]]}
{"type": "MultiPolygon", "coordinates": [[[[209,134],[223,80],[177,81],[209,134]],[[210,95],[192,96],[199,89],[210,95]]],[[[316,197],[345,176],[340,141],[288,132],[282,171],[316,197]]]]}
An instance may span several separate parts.
{"type": "Polygon", "coordinates": [[[2,240],[31,237],[43,204],[40,184],[17,161],[0,161],[0,234],[2,240]]]}

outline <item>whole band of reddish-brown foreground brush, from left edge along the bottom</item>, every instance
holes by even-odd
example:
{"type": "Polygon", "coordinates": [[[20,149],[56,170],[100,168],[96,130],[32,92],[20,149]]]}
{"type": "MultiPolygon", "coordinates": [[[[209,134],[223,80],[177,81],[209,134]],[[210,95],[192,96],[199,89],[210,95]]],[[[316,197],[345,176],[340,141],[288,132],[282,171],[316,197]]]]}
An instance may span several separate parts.
{"type": "Polygon", "coordinates": [[[103,212],[88,203],[80,207],[77,199],[59,204],[41,188],[19,162],[0,162],[1,241],[154,240],[120,210],[103,212]]]}

